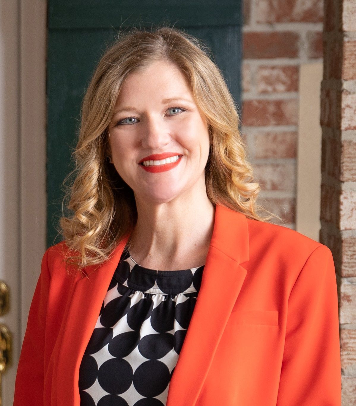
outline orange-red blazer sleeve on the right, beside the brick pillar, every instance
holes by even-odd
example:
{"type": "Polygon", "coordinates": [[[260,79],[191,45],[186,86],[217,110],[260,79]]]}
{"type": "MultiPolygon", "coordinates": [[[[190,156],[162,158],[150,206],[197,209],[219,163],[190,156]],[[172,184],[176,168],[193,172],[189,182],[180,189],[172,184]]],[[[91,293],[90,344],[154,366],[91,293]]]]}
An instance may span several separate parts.
{"type": "Polygon", "coordinates": [[[337,283],[331,251],[318,246],[288,300],[277,406],[340,406],[337,283]]]}

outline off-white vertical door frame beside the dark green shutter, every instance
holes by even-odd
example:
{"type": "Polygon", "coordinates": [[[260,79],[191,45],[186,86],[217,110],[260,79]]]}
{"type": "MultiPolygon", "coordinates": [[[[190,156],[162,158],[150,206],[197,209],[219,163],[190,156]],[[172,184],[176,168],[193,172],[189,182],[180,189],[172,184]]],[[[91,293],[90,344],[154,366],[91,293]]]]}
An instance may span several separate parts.
{"type": "Polygon", "coordinates": [[[21,0],[21,343],[46,249],[47,0],[21,0]]]}

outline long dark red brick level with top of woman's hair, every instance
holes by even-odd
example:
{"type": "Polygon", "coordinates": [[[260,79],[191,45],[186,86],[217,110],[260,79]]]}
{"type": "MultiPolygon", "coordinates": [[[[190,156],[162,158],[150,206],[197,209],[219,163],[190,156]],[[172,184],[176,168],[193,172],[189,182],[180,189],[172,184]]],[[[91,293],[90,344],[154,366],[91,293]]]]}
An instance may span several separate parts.
{"type": "Polygon", "coordinates": [[[244,59],[297,58],[299,35],[296,32],[245,32],[244,59]]]}

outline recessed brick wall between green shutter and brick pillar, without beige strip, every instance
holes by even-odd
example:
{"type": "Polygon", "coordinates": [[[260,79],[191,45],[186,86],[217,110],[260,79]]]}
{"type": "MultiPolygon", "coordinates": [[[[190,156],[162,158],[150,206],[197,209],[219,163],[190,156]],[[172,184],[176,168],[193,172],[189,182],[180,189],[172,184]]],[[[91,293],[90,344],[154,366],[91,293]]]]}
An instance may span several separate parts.
{"type": "Polygon", "coordinates": [[[322,61],[322,0],[245,0],[242,134],[260,203],[295,227],[299,65],[322,61]]]}

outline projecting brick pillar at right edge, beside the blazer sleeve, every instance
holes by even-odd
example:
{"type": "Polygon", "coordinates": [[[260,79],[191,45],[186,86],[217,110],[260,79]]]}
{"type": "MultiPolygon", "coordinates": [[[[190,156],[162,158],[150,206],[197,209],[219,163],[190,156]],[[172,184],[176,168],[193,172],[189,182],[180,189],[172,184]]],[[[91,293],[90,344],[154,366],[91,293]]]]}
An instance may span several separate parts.
{"type": "Polygon", "coordinates": [[[339,289],[342,404],[356,404],[356,2],[326,0],[322,229],[339,289]]]}

